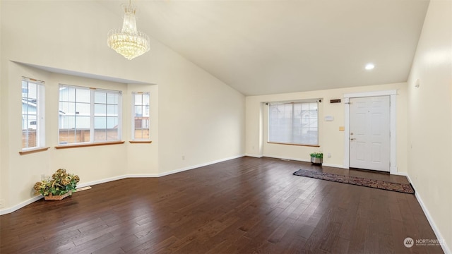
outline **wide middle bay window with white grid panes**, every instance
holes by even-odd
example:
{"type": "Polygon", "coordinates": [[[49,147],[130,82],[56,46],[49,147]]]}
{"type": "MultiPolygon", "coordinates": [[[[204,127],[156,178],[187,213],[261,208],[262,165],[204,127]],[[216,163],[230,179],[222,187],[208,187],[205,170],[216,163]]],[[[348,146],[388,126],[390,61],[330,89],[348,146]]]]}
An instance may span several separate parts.
{"type": "Polygon", "coordinates": [[[121,92],[59,85],[59,144],[121,140],[121,92]]]}

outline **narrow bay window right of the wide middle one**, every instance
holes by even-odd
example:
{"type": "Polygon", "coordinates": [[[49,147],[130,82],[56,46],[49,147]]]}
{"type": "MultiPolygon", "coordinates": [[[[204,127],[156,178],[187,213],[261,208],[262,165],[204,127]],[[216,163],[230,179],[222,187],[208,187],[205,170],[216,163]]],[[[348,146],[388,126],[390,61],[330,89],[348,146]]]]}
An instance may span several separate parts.
{"type": "Polygon", "coordinates": [[[132,140],[149,140],[149,92],[132,92],[132,140]]]}

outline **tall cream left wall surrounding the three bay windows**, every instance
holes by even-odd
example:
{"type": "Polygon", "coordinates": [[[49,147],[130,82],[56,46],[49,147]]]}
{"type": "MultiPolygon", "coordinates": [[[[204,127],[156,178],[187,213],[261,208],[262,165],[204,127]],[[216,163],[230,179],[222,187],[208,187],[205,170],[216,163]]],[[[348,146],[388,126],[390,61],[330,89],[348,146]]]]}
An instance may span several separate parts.
{"type": "Polygon", "coordinates": [[[0,129],[4,208],[30,200],[32,184],[59,167],[80,174],[81,183],[88,183],[124,175],[158,176],[244,154],[244,95],[152,37],[150,52],[132,61],[124,59],[106,45],[107,32],[117,27],[117,18],[95,1],[1,1],[0,119],[8,123],[0,129]],[[12,61],[117,82],[49,73],[12,61]],[[51,149],[20,156],[20,109],[13,105],[20,103],[22,75],[46,81],[46,143],[51,149]],[[126,143],[54,150],[59,82],[122,90],[126,143]],[[151,144],[128,143],[129,95],[136,90],[149,91],[151,107],[154,104],[151,144]]]}

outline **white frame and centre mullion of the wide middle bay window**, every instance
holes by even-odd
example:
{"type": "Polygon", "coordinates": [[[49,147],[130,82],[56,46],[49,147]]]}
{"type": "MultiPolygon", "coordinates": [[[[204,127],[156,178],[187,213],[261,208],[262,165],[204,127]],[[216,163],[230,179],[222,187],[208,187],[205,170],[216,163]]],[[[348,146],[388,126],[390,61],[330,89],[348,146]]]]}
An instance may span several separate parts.
{"type": "MultiPolygon", "coordinates": [[[[89,146],[95,146],[95,145],[114,145],[117,143],[124,143],[124,141],[122,141],[122,91],[121,90],[108,90],[108,89],[103,89],[103,88],[96,88],[96,87],[84,87],[84,86],[80,86],[80,85],[66,85],[63,83],[59,83],[59,88],[61,87],[72,87],[75,89],[81,89],[81,90],[89,90],[90,91],[90,141],[88,142],[79,142],[79,143],[67,143],[67,144],[61,144],[60,143],[60,131],[61,131],[61,118],[60,116],[59,118],[59,123],[58,123],[58,145],[55,146],[56,149],[61,149],[61,148],[71,148],[71,147],[89,147],[89,146]],[[95,101],[94,101],[94,97],[95,97],[95,91],[98,92],[111,92],[111,93],[116,93],[117,95],[119,95],[118,98],[118,127],[117,127],[117,140],[95,140],[94,136],[95,136],[95,128],[94,128],[94,119],[95,119],[95,101]]],[[[59,95],[58,98],[58,103],[61,102],[61,98],[59,95]]],[[[75,103],[75,102],[74,102],[75,103]]],[[[59,106],[58,106],[58,111],[59,111],[59,106]]],[[[59,112],[58,112],[59,114],[59,112]]]]}

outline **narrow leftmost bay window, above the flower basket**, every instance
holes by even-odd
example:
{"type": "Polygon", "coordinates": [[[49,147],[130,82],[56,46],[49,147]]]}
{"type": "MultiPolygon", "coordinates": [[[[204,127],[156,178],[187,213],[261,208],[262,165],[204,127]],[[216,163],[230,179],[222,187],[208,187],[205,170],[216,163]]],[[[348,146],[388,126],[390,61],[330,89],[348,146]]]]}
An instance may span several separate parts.
{"type": "Polygon", "coordinates": [[[22,79],[22,150],[43,147],[44,82],[31,78],[22,79]]]}

